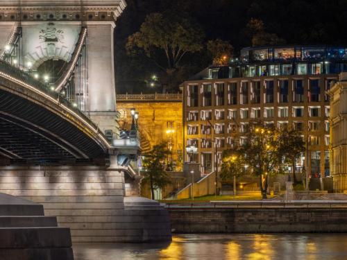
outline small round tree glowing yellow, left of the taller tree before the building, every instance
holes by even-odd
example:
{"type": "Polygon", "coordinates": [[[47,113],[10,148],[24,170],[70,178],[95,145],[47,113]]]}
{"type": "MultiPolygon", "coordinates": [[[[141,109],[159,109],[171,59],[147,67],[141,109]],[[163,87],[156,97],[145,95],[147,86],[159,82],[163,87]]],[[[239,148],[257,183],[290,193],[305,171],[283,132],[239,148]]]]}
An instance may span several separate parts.
{"type": "Polygon", "coordinates": [[[231,181],[234,176],[244,174],[244,154],[240,148],[223,150],[220,177],[223,181],[231,181]]]}

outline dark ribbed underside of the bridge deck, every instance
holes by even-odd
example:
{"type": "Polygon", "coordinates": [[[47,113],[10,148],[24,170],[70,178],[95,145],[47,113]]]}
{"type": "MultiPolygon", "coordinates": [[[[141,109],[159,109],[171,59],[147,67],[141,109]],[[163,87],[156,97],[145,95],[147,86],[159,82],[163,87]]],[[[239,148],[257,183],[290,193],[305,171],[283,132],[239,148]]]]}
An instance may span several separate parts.
{"type": "Polygon", "coordinates": [[[103,162],[105,149],[71,122],[0,87],[0,155],[11,164],[103,162]]]}

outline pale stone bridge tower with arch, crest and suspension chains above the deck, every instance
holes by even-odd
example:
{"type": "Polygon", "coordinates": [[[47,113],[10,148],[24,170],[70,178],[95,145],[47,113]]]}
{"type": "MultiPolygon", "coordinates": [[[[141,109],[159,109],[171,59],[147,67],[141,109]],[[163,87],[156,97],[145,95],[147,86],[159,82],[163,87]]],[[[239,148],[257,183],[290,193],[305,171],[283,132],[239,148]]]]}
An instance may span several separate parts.
{"type": "Polygon", "coordinates": [[[124,0],[0,0],[0,55],[60,91],[101,130],[117,131],[113,30],[125,7],[124,0]]]}

